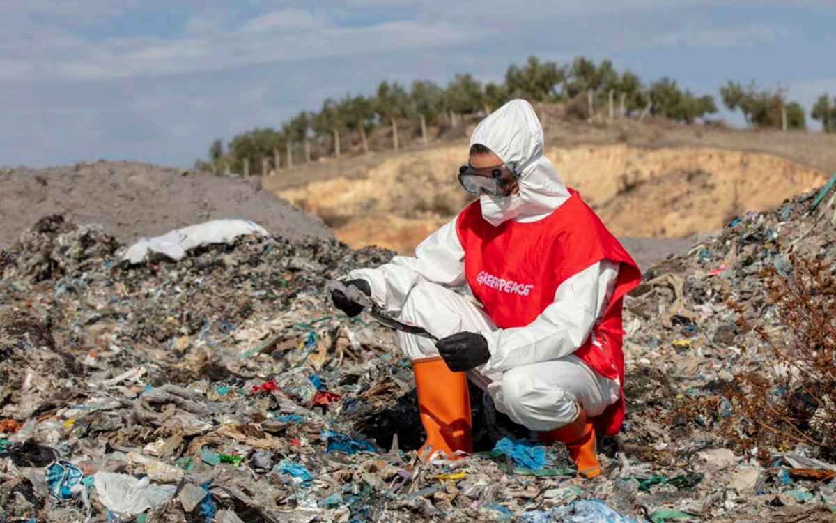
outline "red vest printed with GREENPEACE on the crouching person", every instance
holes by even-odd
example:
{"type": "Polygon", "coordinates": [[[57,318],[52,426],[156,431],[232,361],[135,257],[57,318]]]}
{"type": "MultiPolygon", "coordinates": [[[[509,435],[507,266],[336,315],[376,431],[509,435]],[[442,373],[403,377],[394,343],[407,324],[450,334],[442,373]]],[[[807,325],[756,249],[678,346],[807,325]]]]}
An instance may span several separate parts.
{"type": "Polygon", "coordinates": [[[509,220],[498,227],[482,218],[477,200],[459,215],[456,231],[465,250],[467,283],[502,329],[527,326],[552,305],[560,284],[590,265],[604,259],[620,263],[604,316],[574,352],[595,372],[618,377],[622,384],[621,400],[593,418],[599,432],[613,435],[624,419],[621,306],[624,295],[639,285],[641,272],[580,195],[569,192],[571,197],[546,218],[531,223],[509,220]]]}

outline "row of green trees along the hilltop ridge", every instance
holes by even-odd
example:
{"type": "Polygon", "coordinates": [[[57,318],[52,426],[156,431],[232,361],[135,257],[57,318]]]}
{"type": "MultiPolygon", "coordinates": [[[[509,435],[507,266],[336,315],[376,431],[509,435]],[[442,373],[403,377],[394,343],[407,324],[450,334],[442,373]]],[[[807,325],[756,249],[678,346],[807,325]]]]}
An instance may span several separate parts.
{"type": "MultiPolygon", "coordinates": [[[[747,123],[757,127],[803,128],[801,106],[787,102],[782,90],[758,90],[756,85],[729,82],[721,89],[724,105],[742,110],[747,123]]],[[[318,111],[302,111],[279,128],[260,128],[234,136],[224,146],[212,142],[207,160],[196,167],[239,173],[267,172],[292,167],[318,156],[341,156],[346,146],[368,152],[370,136],[397,150],[406,139],[428,141],[428,128],[456,130],[466,118],[490,114],[514,98],[566,106],[568,117],[594,115],[645,118],[655,115],[686,123],[705,120],[717,112],[711,95],[697,96],[673,79],[645,84],[630,70],[619,71],[609,60],[599,64],[579,57],[558,65],[531,57],[512,64],[500,83],[483,84],[471,74],[456,74],[445,86],[415,80],[409,88],[380,82],[374,95],[346,95],[324,100],[318,111]]],[[[836,99],[822,110],[836,126],[836,99]]],[[[816,113],[818,115],[818,113],[816,113]]],[[[813,115],[813,118],[817,118],[813,115]]],[[[380,145],[380,144],[379,144],[380,145]]]]}

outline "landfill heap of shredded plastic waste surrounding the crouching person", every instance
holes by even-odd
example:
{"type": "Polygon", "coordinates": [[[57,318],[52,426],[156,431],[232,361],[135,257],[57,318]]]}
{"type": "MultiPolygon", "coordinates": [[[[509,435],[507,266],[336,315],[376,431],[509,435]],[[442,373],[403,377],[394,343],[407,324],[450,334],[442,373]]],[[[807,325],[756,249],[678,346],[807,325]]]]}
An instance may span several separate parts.
{"type": "Polygon", "coordinates": [[[793,445],[764,464],[690,414],[769,365],[738,315],[772,325],[760,271],[828,253],[833,202],[814,196],[645,274],[624,429],[594,479],[476,387],[477,452],[417,459],[409,361],[325,292],[388,251],[246,235],[130,263],[102,228],[43,218],[0,253],[0,522],[836,521],[833,461],[793,445]]]}

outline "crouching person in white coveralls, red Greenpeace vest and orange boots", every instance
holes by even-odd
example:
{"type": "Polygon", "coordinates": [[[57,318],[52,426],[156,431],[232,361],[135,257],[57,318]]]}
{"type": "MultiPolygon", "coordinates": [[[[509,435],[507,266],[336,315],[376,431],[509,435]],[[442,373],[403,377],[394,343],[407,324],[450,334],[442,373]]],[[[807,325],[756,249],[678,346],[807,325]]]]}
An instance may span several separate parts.
{"type": "MultiPolygon", "coordinates": [[[[415,249],[345,283],[439,341],[398,332],[427,439],[422,458],[472,452],[468,378],[497,410],[600,474],[596,431],[624,418],[624,295],[633,259],[543,156],[543,129],[512,100],[471,138],[461,186],[478,198],[415,249]],[[475,300],[451,287],[467,284],[475,300]]],[[[363,309],[336,290],[348,315],[363,309]]]]}

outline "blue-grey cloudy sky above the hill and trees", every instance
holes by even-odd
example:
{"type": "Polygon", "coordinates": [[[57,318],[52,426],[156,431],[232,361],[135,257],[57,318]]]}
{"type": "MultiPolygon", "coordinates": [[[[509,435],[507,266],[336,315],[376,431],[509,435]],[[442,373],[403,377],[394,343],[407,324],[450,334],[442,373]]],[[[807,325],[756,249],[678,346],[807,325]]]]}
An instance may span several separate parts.
{"type": "Polygon", "coordinates": [[[327,97],[498,81],[529,55],[699,95],[755,80],[809,108],[836,96],[833,27],[836,0],[0,0],[0,166],[191,167],[327,97]]]}

